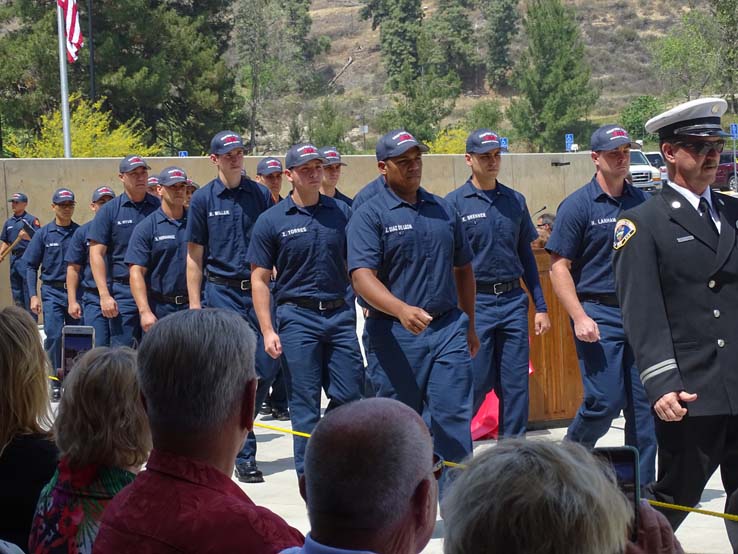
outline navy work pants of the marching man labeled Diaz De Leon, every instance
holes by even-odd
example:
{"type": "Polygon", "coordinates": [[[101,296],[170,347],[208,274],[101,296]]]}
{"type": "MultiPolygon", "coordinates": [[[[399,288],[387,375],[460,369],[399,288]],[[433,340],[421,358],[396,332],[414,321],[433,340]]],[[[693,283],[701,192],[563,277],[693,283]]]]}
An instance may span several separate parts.
{"type": "Polygon", "coordinates": [[[435,451],[448,461],[464,460],[472,453],[469,318],[450,310],[417,336],[390,319],[370,317],[366,328],[367,371],[377,396],[410,406],[429,426],[435,451]]]}

